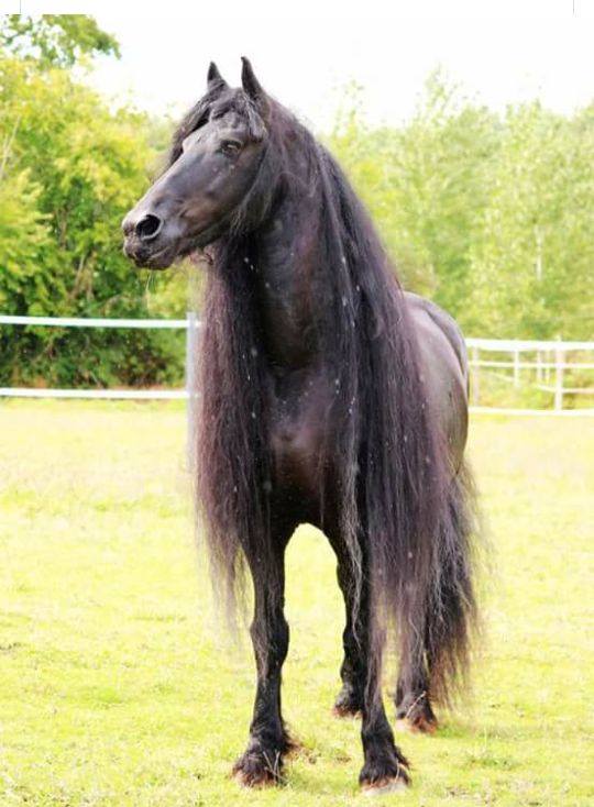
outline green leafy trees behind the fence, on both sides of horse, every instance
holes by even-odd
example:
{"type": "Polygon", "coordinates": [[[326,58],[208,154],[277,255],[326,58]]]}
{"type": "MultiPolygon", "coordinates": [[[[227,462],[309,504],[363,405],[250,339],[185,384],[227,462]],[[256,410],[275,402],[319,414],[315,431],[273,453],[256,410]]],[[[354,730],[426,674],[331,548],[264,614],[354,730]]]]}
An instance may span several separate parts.
{"type": "MultiPolygon", "coordinates": [[[[184,316],[188,270],[134,272],[120,222],[158,170],[172,122],[85,84],[118,43],[85,15],[0,22],[0,311],[184,316]]],[[[323,139],[367,203],[405,285],[469,335],[593,338],[594,102],[497,114],[441,71],[414,118],[370,128],[345,89],[323,139]]],[[[175,332],[0,330],[0,384],[180,383],[175,332]]]]}

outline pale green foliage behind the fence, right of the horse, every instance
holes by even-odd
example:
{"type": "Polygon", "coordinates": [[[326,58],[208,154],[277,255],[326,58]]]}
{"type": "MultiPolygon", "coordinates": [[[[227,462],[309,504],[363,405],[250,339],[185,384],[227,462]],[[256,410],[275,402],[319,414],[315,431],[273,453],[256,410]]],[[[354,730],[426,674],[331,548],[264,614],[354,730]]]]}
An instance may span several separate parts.
{"type": "Polygon", "coordinates": [[[406,286],[474,335],[592,334],[593,107],[497,115],[438,71],[406,125],[369,129],[352,96],[348,110],[330,145],[406,286]]]}

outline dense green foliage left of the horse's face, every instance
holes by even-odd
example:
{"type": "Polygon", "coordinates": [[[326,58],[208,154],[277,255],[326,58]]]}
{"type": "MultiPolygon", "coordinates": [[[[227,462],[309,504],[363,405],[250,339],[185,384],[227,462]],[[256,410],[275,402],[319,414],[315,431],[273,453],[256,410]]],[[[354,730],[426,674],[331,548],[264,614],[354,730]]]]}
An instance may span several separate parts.
{"type": "MultiPolygon", "coordinates": [[[[0,57],[1,310],[147,314],[146,276],[121,253],[120,222],[146,187],[151,131],[144,115],[110,111],[65,69],[0,57]]],[[[0,331],[10,384],[172,382],[182,354],[183,338],[170,332],[0,331]]]]}

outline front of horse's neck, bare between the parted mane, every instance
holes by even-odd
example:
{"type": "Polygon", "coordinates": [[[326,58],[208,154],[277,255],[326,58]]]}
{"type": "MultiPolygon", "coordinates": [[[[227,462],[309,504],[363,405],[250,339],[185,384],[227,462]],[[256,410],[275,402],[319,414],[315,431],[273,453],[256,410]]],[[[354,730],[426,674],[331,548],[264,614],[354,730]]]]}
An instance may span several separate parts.
{"type": "Polygon", "coordinates": [[[256,236],[256,305],[263,346],[280,373],[315,365],[319,355],[320,203],[316,190],[293,188],[256,236]]]}

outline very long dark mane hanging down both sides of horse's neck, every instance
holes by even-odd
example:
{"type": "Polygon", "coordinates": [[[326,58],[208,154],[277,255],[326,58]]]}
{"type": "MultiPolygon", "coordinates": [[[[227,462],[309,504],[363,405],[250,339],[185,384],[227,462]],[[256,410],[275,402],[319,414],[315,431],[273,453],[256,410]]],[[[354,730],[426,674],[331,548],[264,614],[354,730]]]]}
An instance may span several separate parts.
{"type": "MultiPolygon", "coordinates": [[[[252,120],[257,114],[241,90],[217,101],[205,97],[176,134],[172,156],[188,126],[204,122],[213,103],[239,104],[252,120]]],[[[449,609],[460,601],[469,615],[475,609],[470,570],[460,564],[455,545],[460,515],[451,499],[452,468],[426,395],[406,299],[337,162],[285,108],[270,103],[270,143],[251,199],[238,211],[230,233],[212,247],[204,306],[196,478],[213,581],[233,605],[242,589],[245,555],[263,565],[272,557],[266,364],[254,267],[258,224],[274,211],[286,183],[299,180],[321,198],[320,250],[328,291],[317,328],[336,386],[329,417],[338,422],[327,450],[340,474],[341,527],[355,595],[366,566],[377,615],[375,651],[380,653],[384,629],[395,624],[400,645],[427,648],[432,696],[447,701],[452,682],[468,665],[472,621],[452,621],[449,609]],[[298,142],[302,176],[294,176],[287,137],[294,148],[298,142]],[[428,610],[435,613],[430,621],[428,610]],[[442,651],[446,645],[448,652],[442,651]]]]}

